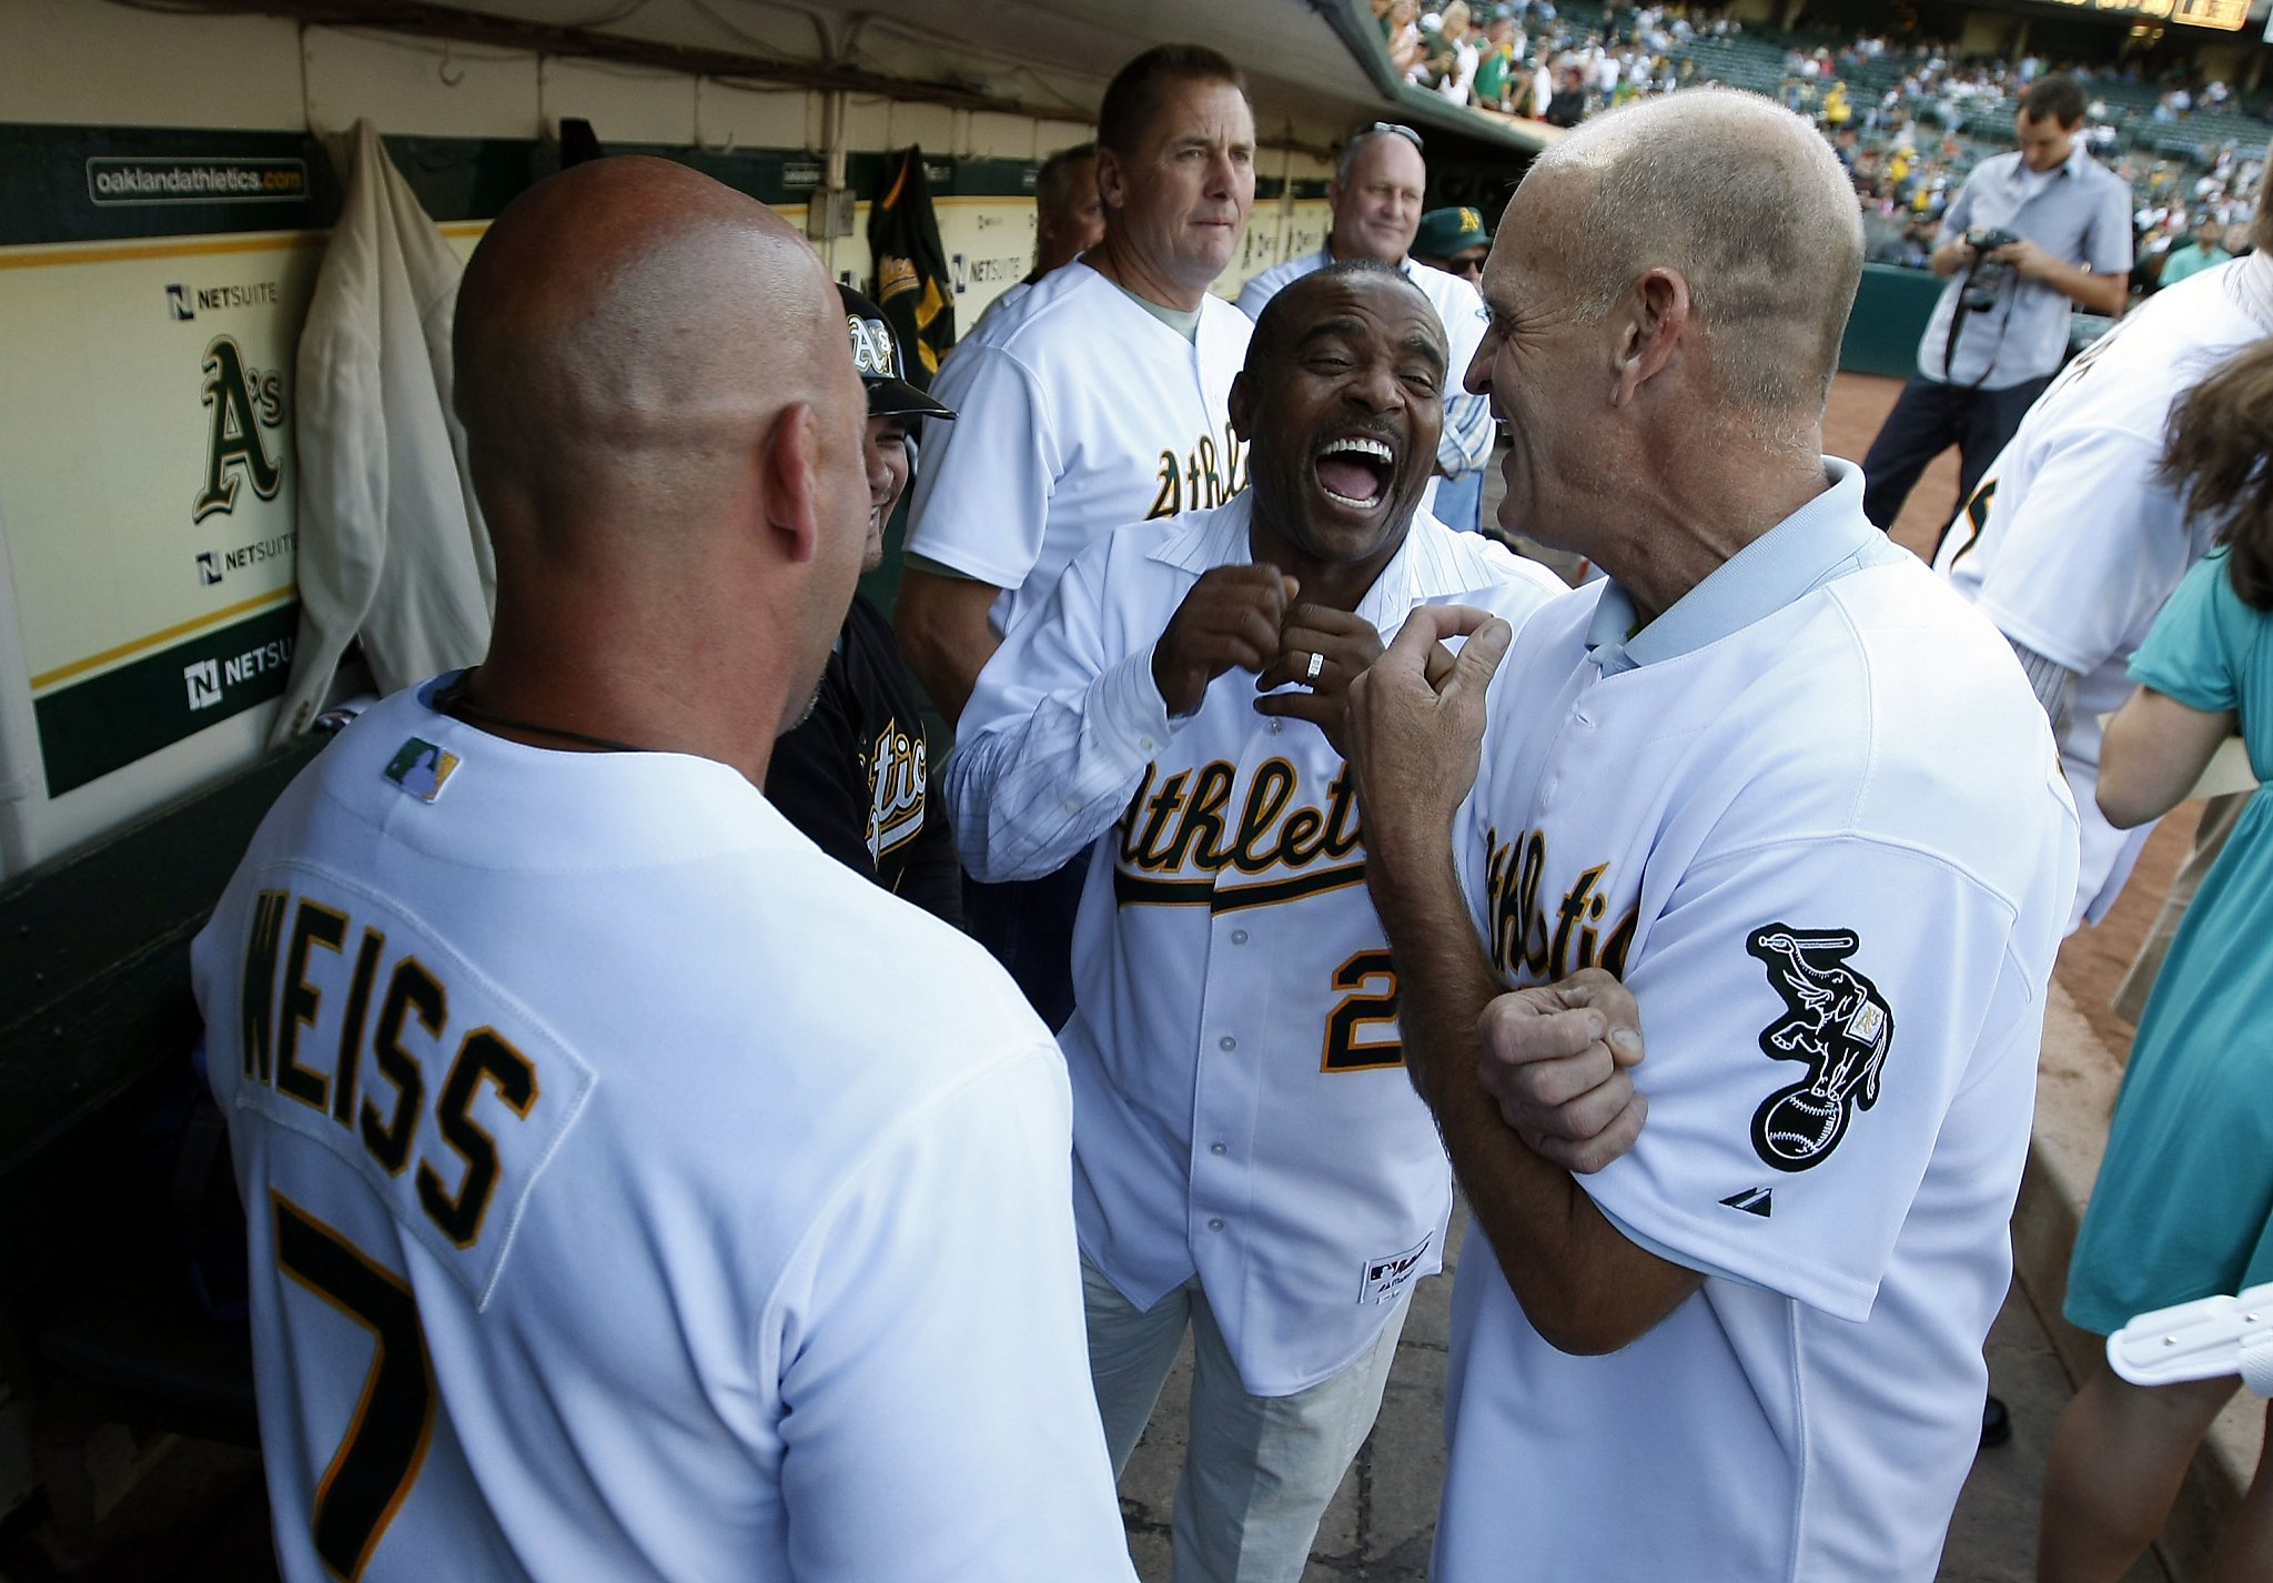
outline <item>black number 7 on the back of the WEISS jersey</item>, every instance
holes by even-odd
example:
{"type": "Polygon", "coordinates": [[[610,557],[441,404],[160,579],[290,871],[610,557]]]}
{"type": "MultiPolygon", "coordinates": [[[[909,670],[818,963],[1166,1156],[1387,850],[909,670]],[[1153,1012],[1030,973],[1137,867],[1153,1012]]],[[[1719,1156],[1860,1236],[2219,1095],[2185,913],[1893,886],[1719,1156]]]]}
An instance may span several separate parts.
{"type": "Polygon", "coordinates": [[[370,1331],[370,1369],[348,1433],[316,1485],[316,1553],[336,1578],[361,1576],[434,1437],[434,1365],[411,1290],[284,1194],[270,1190],[277,1265],[370,1331]]]}

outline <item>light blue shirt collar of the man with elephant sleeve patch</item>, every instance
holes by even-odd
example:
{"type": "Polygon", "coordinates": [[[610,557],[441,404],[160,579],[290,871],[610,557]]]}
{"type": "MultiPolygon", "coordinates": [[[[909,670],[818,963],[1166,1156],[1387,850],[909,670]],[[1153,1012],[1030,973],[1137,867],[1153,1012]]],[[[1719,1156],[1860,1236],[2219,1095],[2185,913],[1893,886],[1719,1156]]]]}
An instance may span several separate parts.
{"type": "Polygon", "coordinates": [[[1657,621],[1634,632],[1634,598],[1609,582],[1587,628],[1587,650],[1602,676],[1675,660],[1741,632],[1800,594],[1909,550],[1862,514],[1862,469],[1823,457],[1832,487],[1730,555],[1657,621]]]}

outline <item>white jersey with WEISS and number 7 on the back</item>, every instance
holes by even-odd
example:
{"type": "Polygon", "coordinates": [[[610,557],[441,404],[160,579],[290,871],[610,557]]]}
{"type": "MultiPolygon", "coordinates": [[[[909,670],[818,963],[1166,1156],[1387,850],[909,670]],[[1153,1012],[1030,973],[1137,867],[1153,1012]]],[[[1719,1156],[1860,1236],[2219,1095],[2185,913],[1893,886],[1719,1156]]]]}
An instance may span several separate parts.
{"type": "Polygon", "coordinates": [[[1130,1583],[1009,978],[725,764],[432,687],[193,951],[284,1576],[1130,1583]]]}

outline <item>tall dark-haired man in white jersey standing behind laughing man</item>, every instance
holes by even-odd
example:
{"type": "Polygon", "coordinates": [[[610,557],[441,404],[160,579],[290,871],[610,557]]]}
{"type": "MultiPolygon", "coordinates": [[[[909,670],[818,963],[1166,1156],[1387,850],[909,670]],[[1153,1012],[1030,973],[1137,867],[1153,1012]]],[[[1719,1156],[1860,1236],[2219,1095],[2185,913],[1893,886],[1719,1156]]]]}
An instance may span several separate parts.
{"type": "MultiPolygon", "coordinates": [[[[1255,116],[1239,68],[1164,43],[1098,107],[1105,239],[989,314],[932,382],[966,414],[927,444],[893,623],[948,721],[1002,635],[1107,528],[1230,500],[1227,428],[1246,314],[1207,287],[1255,207],[1255,116]]],[[[966,894],[966,926],[1057,1028],[1080,871],[966,894]]]]}

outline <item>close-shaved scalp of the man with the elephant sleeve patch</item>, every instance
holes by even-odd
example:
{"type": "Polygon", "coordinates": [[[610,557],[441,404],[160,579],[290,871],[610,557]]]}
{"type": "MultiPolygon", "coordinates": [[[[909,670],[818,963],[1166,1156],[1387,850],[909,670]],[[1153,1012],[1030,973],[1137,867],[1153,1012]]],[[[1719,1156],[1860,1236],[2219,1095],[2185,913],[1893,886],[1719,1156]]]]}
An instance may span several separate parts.
{"type": "Polygon", "coordinates": [[[1525,227],[1550,239],[1587,318],[1650,268],[1677,271],[1727,398],[1821,418],[1862,280],[1862,212],[1809,123],[1732,89],[1598,116],[1532,164],[1505,223],[1525,227]]]}

